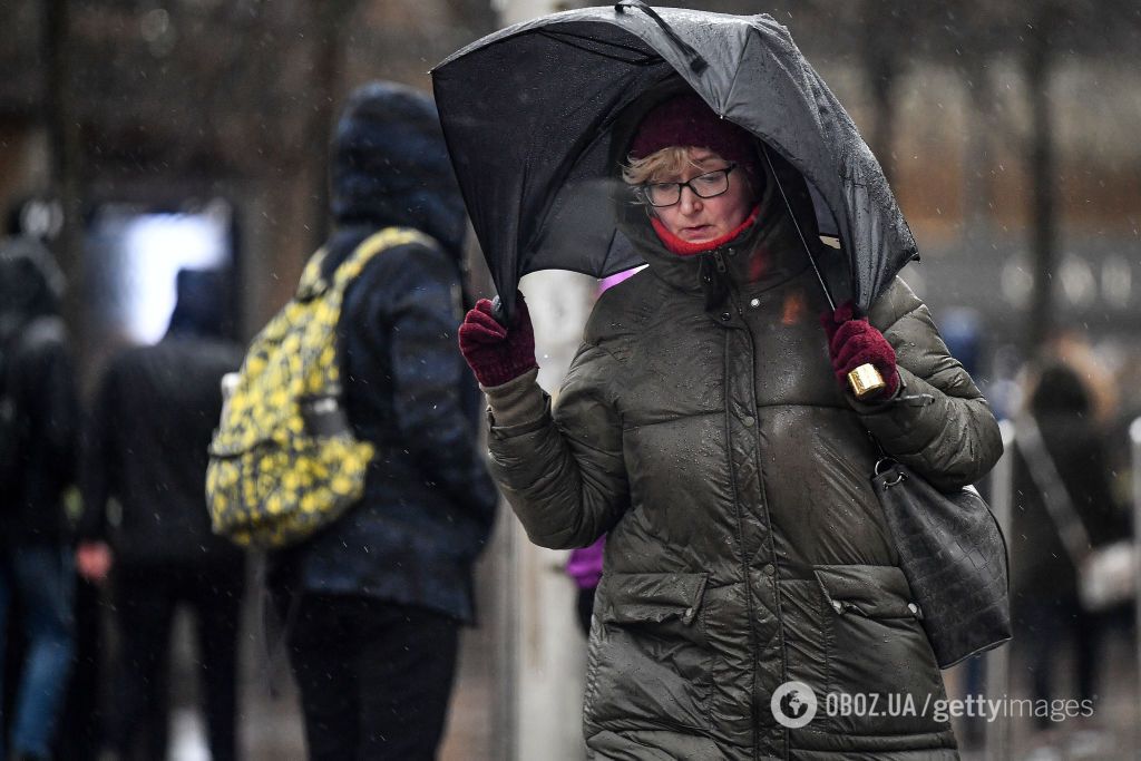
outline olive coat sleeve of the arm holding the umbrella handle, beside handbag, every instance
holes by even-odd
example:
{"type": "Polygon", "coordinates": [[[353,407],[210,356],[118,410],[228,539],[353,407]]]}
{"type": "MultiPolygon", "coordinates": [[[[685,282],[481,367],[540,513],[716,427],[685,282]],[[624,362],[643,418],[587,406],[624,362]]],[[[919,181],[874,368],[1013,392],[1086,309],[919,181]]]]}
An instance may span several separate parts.
{"type": "Polygon", "coordinates": [[[883,404],[852,406],[880,445],[932,485],[954,489],[985,476],[1002,455],[990,405],[953,356],[931,313],[899,278],[869,319],[896,350],[901,389],[883,404]]]}

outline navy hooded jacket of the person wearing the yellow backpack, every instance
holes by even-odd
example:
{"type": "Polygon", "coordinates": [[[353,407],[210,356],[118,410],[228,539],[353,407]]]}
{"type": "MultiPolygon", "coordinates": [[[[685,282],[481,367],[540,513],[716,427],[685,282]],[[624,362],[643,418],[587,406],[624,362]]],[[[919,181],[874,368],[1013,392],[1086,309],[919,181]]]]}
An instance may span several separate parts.
{"type": "Polygon", "coordinates": [[[476,447],[478,388],[455,341],[467,222],[436,107],[408,88],[366,86],[340,120],[333,149],[338,229],[326,275],[383,227],[412,227],[439,245],[387,250],[346,292],[346,404],[357,436],[377,454],[361,504],[276,553],[274,581],[470,620],[471,564],[497,494],[476,447]]]}

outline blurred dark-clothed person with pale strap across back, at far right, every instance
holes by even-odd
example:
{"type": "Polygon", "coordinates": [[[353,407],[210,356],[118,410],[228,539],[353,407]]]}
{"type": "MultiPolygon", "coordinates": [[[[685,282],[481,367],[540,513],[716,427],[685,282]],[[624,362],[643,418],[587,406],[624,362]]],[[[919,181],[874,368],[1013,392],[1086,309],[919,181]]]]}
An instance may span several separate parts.
{"type": "MultiPolygon", "coordinates": [[[[1050,362],[1027,398],[1033,420],[1019,426],[1010,532],[1014,641],[1026,648],[1034,698],[1092,699],[1106,615],[1082,607],[1075,553],[1089,548],[1071,547],[1062,532],[1073,531],[1068,524],[1077,520],[1084,540],[1100,547],[1126,536],[1127,520],[1114,501],[1102,429],[1078,372],[1065,362],[1050,362]],[[1039,432],[1034,440],[1027,427],[1031,422],[1039,432]],[[1051,509],[1047,489],[1065,489],[1063,510],[1051,509]],[[1060,693],[1057,682],[1062,664],[1071,669],[1069,694],[1060,693]]],[[[1038,724],[1046,728],[1050,721],[1038,717],[1038,724]]]]}

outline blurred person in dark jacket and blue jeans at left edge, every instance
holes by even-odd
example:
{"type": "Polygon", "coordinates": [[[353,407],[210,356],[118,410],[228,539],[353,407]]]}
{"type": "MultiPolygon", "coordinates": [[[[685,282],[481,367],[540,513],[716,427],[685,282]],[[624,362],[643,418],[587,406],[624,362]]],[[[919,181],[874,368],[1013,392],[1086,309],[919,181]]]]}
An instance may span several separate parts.
{"type": "Polygon", "coordinates": [[[16,626],[25,640],[11,724],[0,710],[0,730],[24,760],[50,755],[74,648],[64,492],[74,483],[79,406],[62,289],[40,243],[0,243],[0,651],[16,626]],[[19,618],[9,622],[14,608],[19,618]]]}

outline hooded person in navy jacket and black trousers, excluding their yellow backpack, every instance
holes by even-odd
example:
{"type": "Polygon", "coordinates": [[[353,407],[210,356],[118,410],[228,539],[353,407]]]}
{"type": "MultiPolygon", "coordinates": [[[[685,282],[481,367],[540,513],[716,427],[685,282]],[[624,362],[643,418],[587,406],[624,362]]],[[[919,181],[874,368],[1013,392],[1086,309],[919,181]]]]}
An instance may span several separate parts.
{"type": "Polygon", "coordinates": [[[270,580],[309,756],[432,759],[497,497],[455,347],[466,218],[431,99],[391,83],[357,90],[337,126],[331,185],[326,277],[388,226],[438,245],[382,251],[349,284],[340,377],[354,432],[375,446],[365,494],[275,552],[270,580]]]}

